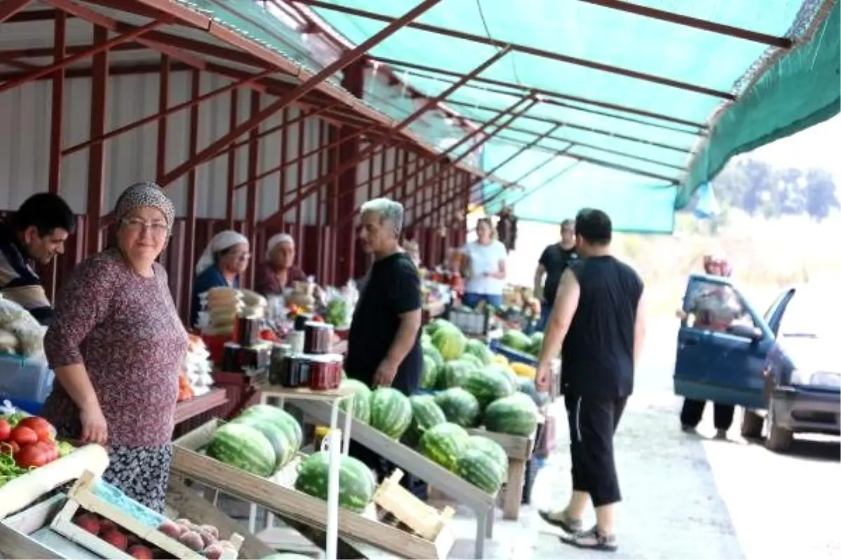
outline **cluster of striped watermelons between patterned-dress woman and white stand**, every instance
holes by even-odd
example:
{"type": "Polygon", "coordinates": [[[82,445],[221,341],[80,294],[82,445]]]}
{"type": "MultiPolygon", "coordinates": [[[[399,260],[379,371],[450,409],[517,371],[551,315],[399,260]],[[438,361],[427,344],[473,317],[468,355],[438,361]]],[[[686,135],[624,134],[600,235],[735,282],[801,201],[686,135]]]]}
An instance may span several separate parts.
{"type": "Polygon", "coordinates": [[[294,416],[276,406],[255,405],[219,427],[209,457],[257,476],[271,476],[298,452],[304,434],[294,416]]]}

